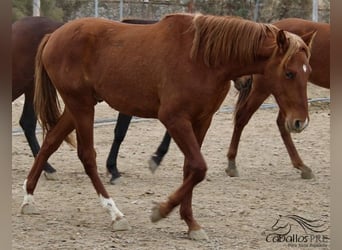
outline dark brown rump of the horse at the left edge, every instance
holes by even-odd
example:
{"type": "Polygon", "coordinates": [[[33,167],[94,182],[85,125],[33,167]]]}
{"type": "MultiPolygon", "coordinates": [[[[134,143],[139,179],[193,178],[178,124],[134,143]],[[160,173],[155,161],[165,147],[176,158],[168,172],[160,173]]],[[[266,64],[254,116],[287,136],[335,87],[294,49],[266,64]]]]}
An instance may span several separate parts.
{"type": "Polygon", "coordinates": [[[25,92],[33,92],[38,45],[45,34],[62,24],[46,17],[25,17],[12,24],[12,101],[25,92]]]}

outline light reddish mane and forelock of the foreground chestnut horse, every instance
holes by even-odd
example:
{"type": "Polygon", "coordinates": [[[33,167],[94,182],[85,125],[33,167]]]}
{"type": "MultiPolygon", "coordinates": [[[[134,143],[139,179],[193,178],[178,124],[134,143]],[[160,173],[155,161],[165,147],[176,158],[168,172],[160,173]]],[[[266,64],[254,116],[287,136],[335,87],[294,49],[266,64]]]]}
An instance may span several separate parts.
{"type": "MultiPolygon", "coordinates": [[[[239,17],[211,16],[196,14],[193,18],[195,35],[190,56],[196,59],[199,51],[203,50],[203,60],[208,67],[225,64],[225,60],[235,60],[249,64],[256,59],[256,53],[270,31],[276,38],[279,30],[272,24],[256,23],[239,17]]],[[[298,41],[291,36],[290,46],[284,56],[284,64],[298,51],[298,41]],[[292,37],[294,39],[292,39],[292,37]]],[[[276,39],[274,39],[274,48],[276,39]]],[[[309,49],[307,51],[309,54],[309,49]]]]}

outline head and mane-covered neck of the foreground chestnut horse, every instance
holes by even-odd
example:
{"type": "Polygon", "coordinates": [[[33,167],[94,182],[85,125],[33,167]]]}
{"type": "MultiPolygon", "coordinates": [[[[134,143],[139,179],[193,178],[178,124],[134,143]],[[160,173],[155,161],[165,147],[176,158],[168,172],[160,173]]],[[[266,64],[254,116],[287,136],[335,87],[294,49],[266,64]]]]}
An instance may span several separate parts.
{"type": "Polygon", "coordinates": [[[300,132],[307,126],[306,86],[313,33],[302,39],[272,24],[210,15],[196,15],[193,28],[193,60],[201,55],[206,66],[222,70],[230,79],[263,74],[272,83],[265,85],[270,85],[268,91],[276,97],[287,130],[300,132]]]}

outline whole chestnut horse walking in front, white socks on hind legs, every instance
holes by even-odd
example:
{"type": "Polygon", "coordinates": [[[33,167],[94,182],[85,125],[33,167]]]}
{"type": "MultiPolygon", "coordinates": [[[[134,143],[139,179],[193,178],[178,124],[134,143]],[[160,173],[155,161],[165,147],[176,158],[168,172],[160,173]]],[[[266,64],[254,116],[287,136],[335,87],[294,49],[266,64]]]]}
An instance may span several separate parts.
{"type": "Polygon", "coordinates": [[[33,193],[44,163],[64,140],[73,143],[75,129],[78,157],[113,230],[129,228],[97,173],[94,106],[103,100],[127,115],[158,118],[184,154],[183,183],[153,207],[151,221],[180,205],[189,238],[208,239],[193,217],[192,192],[207,171],[201,145],[229,80],[256,73],[274,78],[272,92],[288,96],[278,100],[286,128],[303,130],[313,36],[201,14],[170,14],[150,25],[81,18],[61,26],[43,38],[36,55],[34,104],[45,138],[24,181],[21,212],[37,213],[33,193]],[[57,92],[65,104],[62,113],[57,92]]]}

